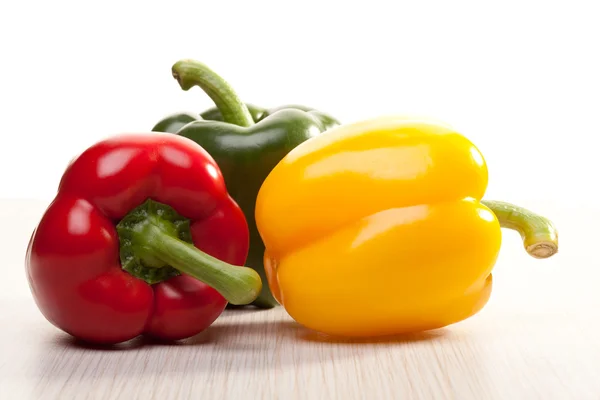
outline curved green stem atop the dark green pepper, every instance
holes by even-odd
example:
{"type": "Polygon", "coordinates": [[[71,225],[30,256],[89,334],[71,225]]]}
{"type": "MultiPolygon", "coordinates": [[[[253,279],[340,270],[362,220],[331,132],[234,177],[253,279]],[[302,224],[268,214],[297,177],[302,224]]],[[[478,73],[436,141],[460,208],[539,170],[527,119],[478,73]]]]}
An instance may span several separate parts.
{"type": "Polygon", "coordinates": [[[177,61],[171,68],[173,77],[183,90],[199,86],[215,103],[223,121],[243,127],[254,124],[246,104],[223,78],[206,65],[195,60],[177,61]]]}

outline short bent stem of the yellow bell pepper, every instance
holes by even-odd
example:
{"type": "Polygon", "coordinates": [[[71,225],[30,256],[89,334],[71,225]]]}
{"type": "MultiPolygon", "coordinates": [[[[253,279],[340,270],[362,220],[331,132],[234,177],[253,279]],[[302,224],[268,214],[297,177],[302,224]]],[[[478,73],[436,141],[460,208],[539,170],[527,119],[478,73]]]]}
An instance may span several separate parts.
{"type": "Polygon", "coordinates": [[[558,252],[558,231],[546,217],[511,203],[482,200],[496,214],[500,226],[519,232],[523,246],[535,258],[548,258],[558,252]]]}

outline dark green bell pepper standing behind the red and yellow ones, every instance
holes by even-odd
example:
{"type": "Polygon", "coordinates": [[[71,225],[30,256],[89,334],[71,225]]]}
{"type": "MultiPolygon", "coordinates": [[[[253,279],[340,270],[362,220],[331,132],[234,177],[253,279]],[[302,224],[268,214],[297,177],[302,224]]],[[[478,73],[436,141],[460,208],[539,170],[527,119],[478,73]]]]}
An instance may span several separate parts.
{"type": "MultiPolygon", "coordinates": [[[[218,112],[209,110],[205,117],[223,119],[224,116],[224,121],[188,123],[177,131],[177,135],[200,144],[216,160],[229,193],[248,221],[250,250],[246,265],[266,280],[264,245],[254,222],[258,190],[271,169],[290,150],[339,122],[323,112],[298,105],[264,110],[261,115],[258,108],[253,108],[252,113],[227,82],[197,61],[179,61],[172,72],[183,90],[198,85],[215,102],[218,112]],[[254,122],[253,118],[259,121],[254,122]]],[[[253,305],[271,308],[276,304],[269,287],[263,285],[263,291],[253,305]]]]}

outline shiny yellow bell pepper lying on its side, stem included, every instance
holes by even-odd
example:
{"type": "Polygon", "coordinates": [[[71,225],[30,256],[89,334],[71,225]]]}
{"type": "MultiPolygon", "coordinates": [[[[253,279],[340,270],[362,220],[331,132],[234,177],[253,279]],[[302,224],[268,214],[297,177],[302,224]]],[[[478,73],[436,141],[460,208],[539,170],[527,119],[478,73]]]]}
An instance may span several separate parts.
{"type": "Polygon", "coordinates": [[[257,197],[269,287],[298,323],[330,335],[464,320],[490,297],[501,227],[534,257],[557,251],[549,220],[482,202],[487,184],[480,151],[441,123],[386,117],[311,138],[257,197]]]}

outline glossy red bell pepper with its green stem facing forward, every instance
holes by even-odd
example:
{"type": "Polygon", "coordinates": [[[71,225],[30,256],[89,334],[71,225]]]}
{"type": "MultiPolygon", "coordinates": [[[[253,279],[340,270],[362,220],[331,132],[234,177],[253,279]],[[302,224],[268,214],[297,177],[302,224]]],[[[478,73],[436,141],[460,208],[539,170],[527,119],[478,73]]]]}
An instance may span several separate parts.
{"type": "Polygon", "coordinates": [[[103,140],[67,167],[26,257],[42,314],[88,342],[163,340],[210,326],[227,302],[249,304],[244,214],[211,156],[160,133],[103,140]]]}

